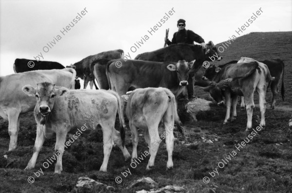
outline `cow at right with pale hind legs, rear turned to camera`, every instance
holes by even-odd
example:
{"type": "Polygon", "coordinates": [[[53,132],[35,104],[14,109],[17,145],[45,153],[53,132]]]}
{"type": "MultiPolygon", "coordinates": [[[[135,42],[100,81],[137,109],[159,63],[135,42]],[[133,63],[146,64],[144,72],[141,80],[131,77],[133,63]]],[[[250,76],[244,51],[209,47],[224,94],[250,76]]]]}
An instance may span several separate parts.
{"type": "MultiPolygon", "coordinates": [[[[205,77],[215,82],[219,82],[220,80],[227,78],[234,79],[226,88],[221,89],[218,86],[211,84],[204,89],[206,91],[212,91],[214,89],[223,90],[227,108],[224,123],[227,123],[227,120],[230,118],[231,98],[233,105],[231,120],[234,120],[236,117],[237,96],[243,95],[244,101],[246,102],[247,112],[246,131],[252,128],[252,115],[255,106],[254,92],[256,90],[259,96],[259,106],[261,112],[260,126],[265,126],[266,89],[268,88],[270,82],[274,80],[274,77],[271,77],[270,71],[265,64],[254,61],[249,63],[226,64],[220,66],[220,68],[212,65],[206,70],[205,77]]],[[[220,92],[218,94],[220,95],[220,92]]]]}

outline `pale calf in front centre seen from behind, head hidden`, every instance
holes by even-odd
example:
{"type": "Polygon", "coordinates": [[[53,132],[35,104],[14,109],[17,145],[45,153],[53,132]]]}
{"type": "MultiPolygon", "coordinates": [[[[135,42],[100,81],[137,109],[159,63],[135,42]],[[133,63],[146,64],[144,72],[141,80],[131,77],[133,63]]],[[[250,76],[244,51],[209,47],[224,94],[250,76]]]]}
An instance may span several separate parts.
{"type": "MultiPolygon", "coordinates": [[[[161,142],[158,127],[163,124],[164,138],[168,153],[167,169],[173,168],[173,128],[174,121],[179,123],[174,94],[167,88],[135,89],[128,98],[127,117],[132,132],[133,153],[131,161],[137,158],[137,129],[145,130],[145,140],[149,147],[150,159],[146,170],[154,166],[155,157],[161,142]]],[[[178,124],[179,125],[179,124],[178,124]]]]}

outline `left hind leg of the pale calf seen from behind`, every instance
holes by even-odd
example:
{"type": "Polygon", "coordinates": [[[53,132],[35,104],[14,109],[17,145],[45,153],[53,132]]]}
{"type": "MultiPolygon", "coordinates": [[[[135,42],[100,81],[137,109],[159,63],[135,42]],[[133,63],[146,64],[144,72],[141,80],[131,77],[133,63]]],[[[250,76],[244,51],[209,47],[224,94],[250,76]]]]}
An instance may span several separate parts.
{"type": "MultiPolygon", "coordinates": [[[[146,120],[147,121],[147,120],[146,120]]],[[[148,126],[148,131],[150,135],[150,158],[146,167],[146,170],[151,170],[154,166],[155,157],[159,148],[160,138],[158,133],[158,124],[150,123],[148,126]]]]}

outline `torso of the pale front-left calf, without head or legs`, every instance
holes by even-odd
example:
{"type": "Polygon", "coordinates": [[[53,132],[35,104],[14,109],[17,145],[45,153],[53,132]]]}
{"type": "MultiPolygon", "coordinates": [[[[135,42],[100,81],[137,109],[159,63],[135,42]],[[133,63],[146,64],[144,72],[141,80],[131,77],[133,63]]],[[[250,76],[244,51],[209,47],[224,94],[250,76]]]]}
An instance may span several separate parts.
{"type": "Polygon", "coordinates": [[[69,128],[87,123],[91,129],[95,129],[98,120],[115,117],[117,108],[117,98],[106,90],[70,90],[68,95],[56,97],[49,121],[68,123],[69,128]]]}

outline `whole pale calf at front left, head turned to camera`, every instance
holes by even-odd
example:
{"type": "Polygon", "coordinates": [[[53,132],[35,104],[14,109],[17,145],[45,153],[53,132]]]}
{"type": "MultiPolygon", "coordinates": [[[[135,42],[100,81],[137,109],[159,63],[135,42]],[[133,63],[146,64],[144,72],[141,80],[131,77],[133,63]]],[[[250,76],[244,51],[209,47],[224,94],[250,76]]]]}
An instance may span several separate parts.
{"type": "MultiPolygon", "coordinates": [[[[57,154],[57,162],[55,173],[60,174],[66,135],[69,131],[75,129],[75,134],[80,136],[81,131],[78,129],[79,132],[76,131],[76,128],[80,128],[82,125],[89,129],[97,129],[98,125],[101,126],[104,144],[104,160],[100,167],[101,171],[107,171],[113,142],[122,150],[126,159],[130,158],[127,148],[124,147],[124,127],[126,127],[126,124],[121,111],[120,97],[117,93],[107,90],[70,90],[69,92],[67,88],[55,88],[55,85],[46,82],[37,84],[37,88],[27,85],[22,90],[28,96],[35,96],[37,99],[34,110],[37,121],[37,138],[34,154],[25,170],[35,167],[38,153],[45,138],[52,137],[53,133],[56,133],[55,153],[57,154]],[[120,118],[121,133],[114,128],[117,111],[120,118]]],[[[81,127],[81,130],[85,131],[83,128],[81,127]]],[[[77,137],[76,135],[75,137],[77,137]]],[[[70,140],[69,143],[67,141],[66,145],[73,141],[70,140]]]]}

